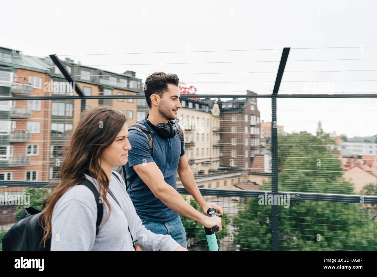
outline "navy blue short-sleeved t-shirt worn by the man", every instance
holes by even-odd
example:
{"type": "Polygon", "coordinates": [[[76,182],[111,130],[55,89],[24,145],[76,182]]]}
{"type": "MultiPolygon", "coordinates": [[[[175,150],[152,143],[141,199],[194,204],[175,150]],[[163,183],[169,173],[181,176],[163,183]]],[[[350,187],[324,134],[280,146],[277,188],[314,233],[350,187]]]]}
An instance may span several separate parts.
{"type": "MultiPolygon", "coordinates": [[[[138,123],[154,132],[145,119],[138,123]]],[[[132,176],[136,174],[133,169],[134,165],[143,164],[143,162],[155,162],[164,175],[165,182],[176,190],[179,158],[186,153],[184,145],[181,149],[181,139],[179,138],[178,130],[176,131],[175,137],[172,139],[162,138],[157,132],[153,135],[151,134],[153,142],[153,157],[150,155],[149,143],[143,133],[137,130],[130,130],[129,135],[132,149],[128,151],[128,162],[125,166],[127,173],[127,186],[130,184],[132,176]]],[[[139,176],[136,177],[127,192],[129,193],[133,205],[135,206],[136,213],[141,220],[166,223],[179,216],[178,213],[167,207],[161,200],[155,197],[139,176]]]]}

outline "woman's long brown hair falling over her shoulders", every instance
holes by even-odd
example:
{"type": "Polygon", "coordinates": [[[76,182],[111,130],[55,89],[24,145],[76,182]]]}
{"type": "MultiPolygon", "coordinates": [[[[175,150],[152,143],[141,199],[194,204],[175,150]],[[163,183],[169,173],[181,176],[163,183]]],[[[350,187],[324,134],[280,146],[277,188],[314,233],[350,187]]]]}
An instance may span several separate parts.
{"type": "Polygon", "coordinates": [[[99,194],[109,209],[104,222],[109,218],[111,208],[106,198],[109,191],[109,179],[101,168],[100,158],[103,150],[113,143],[125,122],[126,117],[122,113],[108,107],[100,106],[83,113],[72,134],[69,147],[66,149],[67,155],[64,157],[61,169],[52,181],[54,182],[60,175],[60,182],[51,193],[42,211],[44,247],[46,247],[46,241],[51,238],[52,212],[56,203],[67,190],[80,184],[86,169],[90,168],[97,175],[99,194]]]}

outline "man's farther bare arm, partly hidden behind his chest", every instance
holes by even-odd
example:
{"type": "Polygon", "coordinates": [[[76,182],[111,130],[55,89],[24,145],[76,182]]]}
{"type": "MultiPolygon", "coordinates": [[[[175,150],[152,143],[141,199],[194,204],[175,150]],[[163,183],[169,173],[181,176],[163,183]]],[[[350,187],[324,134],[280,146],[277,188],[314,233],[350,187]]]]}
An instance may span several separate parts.
{"type": "Polygon", "coordinates": [[[207,203],[202,194],[199,191],[198,185],[196,185],[194,175],[190,168],[189,163],[187,162],[186,155],[183,155],[179,158],[178,169],[177,169],[179,179],[181,179],[182,185],[184,188],[195,198],[198,205],[203,210],[203,213],[207,214],[209,208],[214,208],[219,211],[221,214],[224,213],[222,208],[215,203],[207,203]]]}

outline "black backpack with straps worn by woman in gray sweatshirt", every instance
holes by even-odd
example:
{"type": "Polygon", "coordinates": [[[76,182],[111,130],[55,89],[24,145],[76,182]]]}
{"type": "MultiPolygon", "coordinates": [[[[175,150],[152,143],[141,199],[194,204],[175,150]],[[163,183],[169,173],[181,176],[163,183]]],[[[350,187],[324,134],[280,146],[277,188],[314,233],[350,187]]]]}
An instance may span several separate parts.
{"type": "MultiPolygon", "coordinates": [[[[120,181],[118,175],[114,172],[112,174],[116,179],[120,181]]],[[[83,181],[79,185],[84,185],[89,188],[94,194],[95,199],[100,199],[100,195],[88,179],[84,177],[83,181]]],[[[115,196],[109,190],[109,194],[118,203],[115,196]]],[[[96,201],[97,204],[97,223],[96,223],[96,235],[98,234],[99,227],[103,217],[103,204],[100,201],[96,201]]],[[[3,237],[3,251],[50,251],[51,239],[46,241],[46,247],[43,247],[43,228],[41,226],[41,219],[44,214],[41,214],[40,210],[33,207],[25,208],[20,215],[17,223],[15,223],[3,237]]],[[[128,228],[130,232],[130,228],[128,228]]],[[[131,234],[131,232],[130,232],[131,234]]],[[[132,241],[133,237],[131,235],[132,241]]],[[[135,245],[134,245],[135,248],[135,245]]]]}

